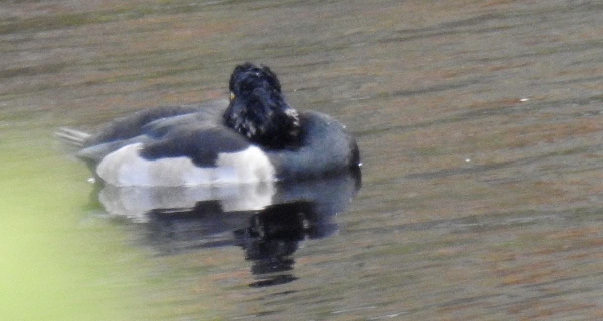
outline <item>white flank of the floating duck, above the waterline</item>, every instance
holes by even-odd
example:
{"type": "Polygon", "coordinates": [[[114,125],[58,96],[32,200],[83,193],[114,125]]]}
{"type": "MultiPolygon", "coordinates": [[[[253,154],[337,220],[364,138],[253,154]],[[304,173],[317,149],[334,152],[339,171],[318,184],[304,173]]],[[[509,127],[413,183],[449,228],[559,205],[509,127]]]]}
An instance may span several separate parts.
{"type": "Polygon", "coordinates": [[[216,167],[198,167],[188,157],[145,160],[142,144],[127,145],[107,155],[96,173],[115,186],[191,186],[240,184],[274,180],[274,167],[257,147],[218,155],[216,167]]]}

